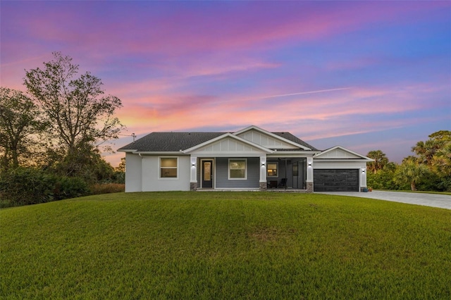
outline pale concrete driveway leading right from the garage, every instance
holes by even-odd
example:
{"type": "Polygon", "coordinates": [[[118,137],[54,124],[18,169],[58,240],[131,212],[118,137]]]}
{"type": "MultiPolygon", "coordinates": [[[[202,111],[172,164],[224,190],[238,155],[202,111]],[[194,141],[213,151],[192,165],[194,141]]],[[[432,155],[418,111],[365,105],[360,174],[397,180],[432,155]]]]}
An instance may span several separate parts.
{"type": "Polygon", "coordinates": [[[451,196],[442,194],[424,194],[407,192],[316,192],[316,194],[330,194],[341,196],[356,196],[362,198],[379,199],[386,201],[401,202],[407,204],[416,204],[432,206],[438,208],[451,209],[451,196]]]}

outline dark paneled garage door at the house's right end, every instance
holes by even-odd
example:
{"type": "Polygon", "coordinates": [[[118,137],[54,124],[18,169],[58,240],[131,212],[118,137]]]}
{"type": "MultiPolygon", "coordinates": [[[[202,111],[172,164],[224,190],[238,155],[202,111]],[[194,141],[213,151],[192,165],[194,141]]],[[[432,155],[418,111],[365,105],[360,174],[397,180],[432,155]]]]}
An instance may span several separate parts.
{"type": "Polygon", "coordinates": [[[314,192],[359,192],[359,169],[315,169],[314,192]]]}

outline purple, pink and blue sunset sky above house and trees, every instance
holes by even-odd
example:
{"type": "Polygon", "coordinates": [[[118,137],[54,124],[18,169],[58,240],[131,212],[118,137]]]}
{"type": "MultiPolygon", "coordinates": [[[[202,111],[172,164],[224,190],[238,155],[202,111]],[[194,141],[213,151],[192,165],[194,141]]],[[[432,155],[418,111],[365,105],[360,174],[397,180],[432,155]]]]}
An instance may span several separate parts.
{"type": "Polygon", "coordinates": [[[256,125],[400,163],[451,130],[451,1],[0,1],[1,87],[53,51],[121,99],[113,149],[256,125]]]}

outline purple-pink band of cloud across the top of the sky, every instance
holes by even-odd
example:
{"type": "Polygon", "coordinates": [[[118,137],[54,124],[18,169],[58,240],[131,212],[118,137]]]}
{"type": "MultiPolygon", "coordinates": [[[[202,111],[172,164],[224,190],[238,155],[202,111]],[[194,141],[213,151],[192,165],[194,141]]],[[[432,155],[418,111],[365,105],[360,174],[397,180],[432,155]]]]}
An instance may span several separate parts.
{"type": "Polygon", "coordinates": [[[89,20],[89,9],[68,4],[72,9],[61,10],[59,6],[48,5],[39,12],[39,17],[27,15],[20,21],[27,27],[27,34],[36,39],[73,44],[79,50],[89,49],[91,55],[101,59],[102,50],[108,50],[109,54],[135,52],[166,56],[192,51],[204,54],[233,49],[255,51],[259,46],[272,48],[293,40],[322,39],[377,22],[412,22],[400,15],[410,12],[421,18],[422,12],[436,6],[447,4],[438,1],[409,2],[409,5],[350,2],[328,9],[328,6],[313,7],[308,2],[285,6],[247,3],[239,9],[223,10],[223,6],[218,6],[209,11],[194,6],[174,6],[160,15],[140,11],[132,5],[111,4],[104,10],[105,15],[118,15],[118,10],[122,9],[133,13],[135,18],[104,18],[100,23],[96,18],[89,20]],[[80,23],[80,19],[87,21],[80,23]],[[130,35],[130,28],[142,30],[130,35]]]}

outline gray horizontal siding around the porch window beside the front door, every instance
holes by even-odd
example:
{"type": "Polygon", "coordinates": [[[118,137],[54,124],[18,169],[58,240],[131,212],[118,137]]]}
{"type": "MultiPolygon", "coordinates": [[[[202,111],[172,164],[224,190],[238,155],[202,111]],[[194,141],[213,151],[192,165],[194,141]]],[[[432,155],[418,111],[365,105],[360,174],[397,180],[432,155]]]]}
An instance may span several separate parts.
{"type": "Polygon", "coordinates": [[[258,189],[260,182],[260,159],[247,158],[247,180],[228,179],[228,158],[216,158],[216,188],[249,188],[258,189]]]}

